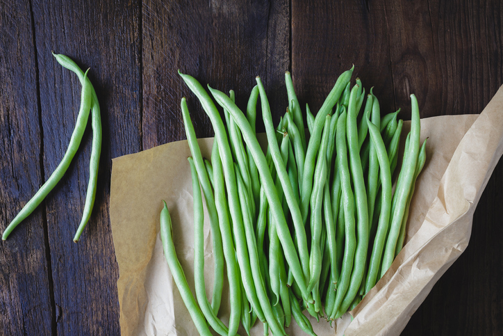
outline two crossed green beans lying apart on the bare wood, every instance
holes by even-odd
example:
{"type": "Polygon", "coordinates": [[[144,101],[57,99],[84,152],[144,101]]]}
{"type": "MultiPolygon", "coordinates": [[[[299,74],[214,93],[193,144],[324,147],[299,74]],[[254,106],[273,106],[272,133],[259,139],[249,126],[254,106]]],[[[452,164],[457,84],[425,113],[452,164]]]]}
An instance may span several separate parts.
{"type": "Polygon", "coordinates": [[[92,126],[92,150],[89,163],[89,183],[88,191],[85,197],[85,205],[82,215],[81,223],[77,229],[74,236],[74,242],[79,241],[81,234],[88,223],[92,207],[94,205],[94,198],[96,197],[97,180],[98,180],[98,166],[99,166],[99,156],[101,154],[101,113],[99,109],[98,98],[96,91],[88,79],[88,71],[84,73],[79,65],[76,65],[74,61],[68,56],[62,54],[53,54],[56,61],[60,63],[63,67],[74,72],[82,85],[81,93],[81,106],[79,109],[79,115],[77,116],[76,125],[72,133],[72,138],[68,144],[67,151],[63,156],[63,159],[59,163],[56,170],[53,171],[49,179],[40,187],[40,189],[33,195],[33,198],[29,200],[26,205],[19,211],[19,214],[15,216],[13,221],[10,222],[6,230],[3,231],[2,239],[6,240],[10,232],[12,232],[19,223],[21,223],[26,217],[28,217],[40,203],[46,198],[49,192],[58,184],[60,179],[65,175],[72,159],[74,158],[79,145],[81,144],[82,137],[84,135],[85,127],[88,124],[89,114],[91,112],[91,126],[92,126]]]}

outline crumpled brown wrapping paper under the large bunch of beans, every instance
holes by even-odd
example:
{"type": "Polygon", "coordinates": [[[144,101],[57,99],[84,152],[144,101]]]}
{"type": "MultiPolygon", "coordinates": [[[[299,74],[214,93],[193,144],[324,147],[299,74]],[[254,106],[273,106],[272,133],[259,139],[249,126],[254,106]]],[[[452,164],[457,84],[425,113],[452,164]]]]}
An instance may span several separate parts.
{"type": "MultiPolygon", "coordinates": [[[[503,151],[503,88],[480,115],[427,118],[421,128],[421,139],[429,138],[427,163],[416,184],[406,245],[352,311],[354,319],[345,314],[332,326],[311,319],[318,335],[398,335],[468,246],[475,207],[503,151]]],[[[213,138],[200,139],[199,145],[209,158],[213,138]]],[[[166,200],[176,253],[194,292],[189,155],[187,142],[178,141],[113,159],[110,221],[120,272],[123,335],[197,335],[165,262],[159,235],[161,200],[166,200]]],[[[211,296],[213,254],[207,219],[205,275],[211,296]]],[[[219,314],[224,323],[229,305],[225,282],[219,314]]],[[[293,319],[287,333],[303,335],[293,319]]],[[[240,335],[245,335],[242,328],[240,335]]],[[[261,323],[252,328],[252,335],[263,335],[261,323]]]]}

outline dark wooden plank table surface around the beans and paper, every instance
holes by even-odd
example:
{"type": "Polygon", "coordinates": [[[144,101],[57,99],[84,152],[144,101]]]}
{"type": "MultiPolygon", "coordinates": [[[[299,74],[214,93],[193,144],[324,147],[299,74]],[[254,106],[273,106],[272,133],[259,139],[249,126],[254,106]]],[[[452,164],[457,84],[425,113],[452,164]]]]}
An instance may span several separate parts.
{"type": "MultiPolygon", "coordinates": [[[[240,106],[260,75],[276,121],[286,108],[286,70],[301,104],[317,111],[354,63],[381,111],[401,107],[404,119],[410,93],[422,117],[479,113],[503,83],[496,0],[8,2],[0,3],[1,229],[56,168],[76,120],[80,83],[51,51],[90,67],[103,150],[96,205],[79,243],[72,237],[87,188],[90,127],[56,189],[0,243],[3,335],[119,334],[111,159],[184,139],[183,96],[197,136],[213,136],[177,69],[235,90],[240,106]]],[[[403,335],[502,333],[502,173],[500,164],[479,202],[470,245],[403,335]]]]}

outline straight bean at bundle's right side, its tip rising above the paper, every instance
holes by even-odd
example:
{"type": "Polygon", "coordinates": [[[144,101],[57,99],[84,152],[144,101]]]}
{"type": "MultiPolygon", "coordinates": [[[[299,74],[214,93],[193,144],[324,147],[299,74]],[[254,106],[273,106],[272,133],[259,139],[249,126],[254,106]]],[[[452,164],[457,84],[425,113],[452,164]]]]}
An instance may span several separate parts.
{"type": "Polygon", "coordinates": [[[419,115],[419,106],[418,100],[415,98],[415,95],[411,95],[412,101],[412,113],[411,113],[411,143],[409,144],[409,154],[408,159],[404,162],[402,166],[402,170],[404,170],[404,183],[402,187],[398,188],[395,193],[397,194],[398,202],[395,207],[395,211],[393,211],[391,225],[390,225],[390,233],[388,235],[388,239],[386,241],[386,248],[384,250],[384,259],[383,264],[381,266],[381,276],[386,273],[386,271],[391,266],[393,259],[395,258],[395,249],[397,246],[397,239],[399,235],[399,228],[402,224],[402,219],[404,217],[404,211],[407,203],[407,197],[411,191],[412,179],[414,177],[415,166],[418,161],[418,152],[419,152],[419,137],[420,137],[420,115],[419,115]]]}

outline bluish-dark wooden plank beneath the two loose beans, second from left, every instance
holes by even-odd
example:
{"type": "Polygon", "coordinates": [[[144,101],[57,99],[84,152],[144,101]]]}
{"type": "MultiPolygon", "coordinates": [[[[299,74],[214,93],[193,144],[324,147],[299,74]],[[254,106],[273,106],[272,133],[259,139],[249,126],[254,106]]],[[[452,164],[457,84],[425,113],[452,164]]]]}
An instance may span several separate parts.
{"type": "Polygon", "coordinates": [[[90,123],[74,162],[47,199],[47,222],[57,330],[61,335],[118,335],[119,276],[108,198],[111,158],[141,150],[140,3],[33,1],[40,69],[45,178],[67,148],[79,110],[81,85],[51,51],[66,54],[97,90],[103,145],[94,211],[79,243],[89,177],[90,123]]]}

